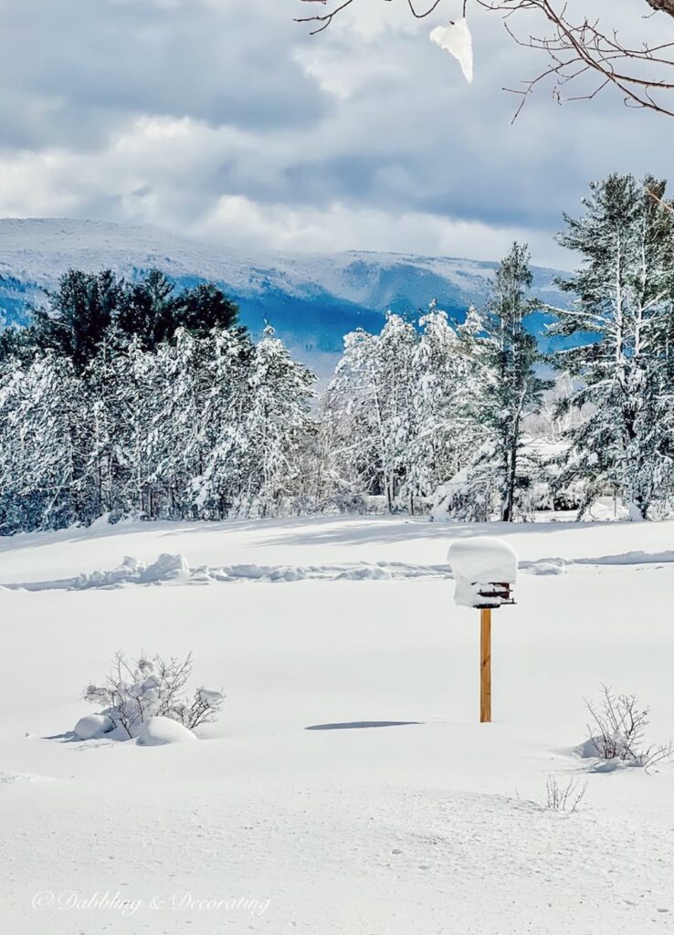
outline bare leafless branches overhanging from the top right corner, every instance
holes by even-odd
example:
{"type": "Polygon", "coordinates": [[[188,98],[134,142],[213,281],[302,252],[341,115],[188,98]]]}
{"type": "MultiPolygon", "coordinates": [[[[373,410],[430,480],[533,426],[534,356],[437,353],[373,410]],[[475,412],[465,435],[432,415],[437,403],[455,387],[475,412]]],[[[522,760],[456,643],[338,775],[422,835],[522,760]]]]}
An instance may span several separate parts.
{"type": "MultiPolygon", "coordinates": [[[[312,34],[316,34],[326,29],[346,7],[362,0],[300,2],[323,6],[321,12],[297,18],[297,22],[308,22],[312,34]]],[[[423,19],[443,0],[429,0],[425,7],[417,7],[415,0],[404,2],[415,18],[423,19]]],[[[574,16],[568,0],[445,0],[445,3],[452,7],[452,13],[463,12],[464,16],[466,8],[471,6],[498,13],[516,45],[545,53],[547,65],[534,78],[523,80],[521,88],[504,89],[522,97],[513,120],[529,95],[546,80],[552,81],[552,96],[559,104],[569,100],[592,100],[604,89],[613,88],[622,95],[627,107],[645,108],[674,117],[672,30],[662,30],[668,32],[663,36],[664,41],[632,37],[624,40],[615,24],[612,3],[606,3],[608,12],[599,17],[583,13],[574,16]],[[541,33],[533,31],[527,14],[538,14],[538,22],[544,26],[541,33]]],[[[674,0],[633,0],[633,6],[636,21],[656,14],[674,19],[674,0]],[[636,8],[638,3],[642,5],[640,13],[636,8]]],[[[638,22],[630,36],[633,33],[638,33],[638,22]]]]}

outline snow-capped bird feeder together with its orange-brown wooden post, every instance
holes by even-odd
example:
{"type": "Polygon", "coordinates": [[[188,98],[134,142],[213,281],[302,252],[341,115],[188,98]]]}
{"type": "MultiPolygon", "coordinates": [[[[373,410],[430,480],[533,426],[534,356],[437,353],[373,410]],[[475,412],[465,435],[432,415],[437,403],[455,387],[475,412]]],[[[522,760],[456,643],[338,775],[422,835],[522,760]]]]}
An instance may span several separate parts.
{"type": "Polygon", "coordinates": [[[480,723],[492,720],[492,611],[514,604],[517,554],[503,539],[476,536],[452,542],[448,560],[454,576],[454,601],[480,611],[480,723]]]}

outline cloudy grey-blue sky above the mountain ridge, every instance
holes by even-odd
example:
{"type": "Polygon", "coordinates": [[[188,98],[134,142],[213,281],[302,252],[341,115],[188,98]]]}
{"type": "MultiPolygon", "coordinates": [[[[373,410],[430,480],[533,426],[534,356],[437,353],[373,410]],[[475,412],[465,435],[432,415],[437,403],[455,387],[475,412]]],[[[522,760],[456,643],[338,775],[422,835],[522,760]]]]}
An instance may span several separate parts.
{"type": "MultiPolygon", "coordinates": [[[[638,2],[611,7],[629,26],[638,2]]],[[[476,259],[521,237],[559,266],[552,235],[588,180],[672,172],[674,120],[612,94],[560,108],[541,89],[510,125],[501,88],[539,60],[476,10],[467,85],[428,39],[460,0],[421,22],[404,0],[356,0],[315,37],[293,22],[308,7],[0,0],[0,216],[476,259]]]]}

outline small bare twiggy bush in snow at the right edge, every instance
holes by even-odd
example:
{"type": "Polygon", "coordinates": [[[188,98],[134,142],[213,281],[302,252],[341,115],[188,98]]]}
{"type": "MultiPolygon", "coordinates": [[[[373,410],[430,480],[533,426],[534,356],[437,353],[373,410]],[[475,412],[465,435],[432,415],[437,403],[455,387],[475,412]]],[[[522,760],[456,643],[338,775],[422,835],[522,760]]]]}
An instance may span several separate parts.
{"type": "Polygon", "coordinates": [[[591,722],[587,726],[586,755],[602,760],[620,760],[625,765],[649,770],[674,755],[672,744],[645,745],[649,709],[641,708],[635,695],[614,695],[601,687],[601,701],[585,701],[591,722]]]}

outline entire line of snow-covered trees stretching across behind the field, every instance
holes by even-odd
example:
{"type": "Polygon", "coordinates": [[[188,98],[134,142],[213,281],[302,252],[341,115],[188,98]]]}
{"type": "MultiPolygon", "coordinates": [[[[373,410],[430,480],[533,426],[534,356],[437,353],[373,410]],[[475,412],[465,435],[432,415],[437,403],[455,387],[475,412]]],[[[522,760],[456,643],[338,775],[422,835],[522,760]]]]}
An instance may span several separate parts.
{"type": "Polygon", "coordinates": [[[674,487],[665,188],[591,185],[558,237],[581,255],[557,281],[566,308],[531,297],[528,250],[513,244],[465,321],[434,302],[418,321],[389,314],[380,334],[347,335],[313,410],[308,368],[270,328],[252,341],[215,286],[69,271],[29,327],[0,334],[0,532],[106,513],[416,512],[438,489],[450,515],[511,521],[543,475],[551,502],[572,490],[581,513],[610,494],[634,519],[662,514],[674,487]],[[535,311],[562,349],[539,352],[535,311]],[[547,455],[531,444],[544,417],[559,441],[547,455]]]}

